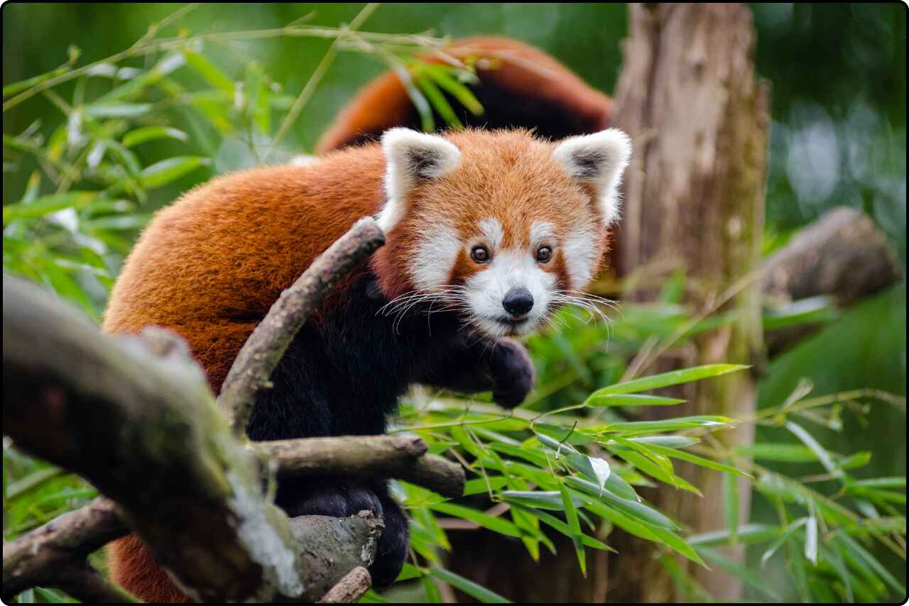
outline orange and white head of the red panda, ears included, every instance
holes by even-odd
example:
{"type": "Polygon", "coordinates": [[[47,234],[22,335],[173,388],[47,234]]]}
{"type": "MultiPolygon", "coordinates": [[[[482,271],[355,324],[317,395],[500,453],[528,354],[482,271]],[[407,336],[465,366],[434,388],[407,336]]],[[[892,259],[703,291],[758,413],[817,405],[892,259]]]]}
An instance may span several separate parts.
{"type": "MultiPolygon", "coordinates": [[[[486,336],[534,330],[594,276],[628,138],[614,129],[559,144],[523,131],[383,137],[378,216],[404,293],[486,336]]],[[[400,289],[399,289],[400,290],[400,289]]]]}

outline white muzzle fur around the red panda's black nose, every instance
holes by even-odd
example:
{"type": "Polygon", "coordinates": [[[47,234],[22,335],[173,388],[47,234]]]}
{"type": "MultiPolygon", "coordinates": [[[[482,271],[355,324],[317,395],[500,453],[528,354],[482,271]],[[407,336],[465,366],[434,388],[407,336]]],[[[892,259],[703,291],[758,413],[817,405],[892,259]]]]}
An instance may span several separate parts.
{"type": "Polygon", "coordinates": [[[527,319],[514,327],[517,333],[529,333],[545,317],[555,289],[555,277],[540,269],[534,257],[529,249],[496,250],[489,266],[464,283],[474,323],[487,335],[500,337],[511,332],[502,300],[513,288],[526,288],[534,297],[534,307],[527,313],[527,319]]]}

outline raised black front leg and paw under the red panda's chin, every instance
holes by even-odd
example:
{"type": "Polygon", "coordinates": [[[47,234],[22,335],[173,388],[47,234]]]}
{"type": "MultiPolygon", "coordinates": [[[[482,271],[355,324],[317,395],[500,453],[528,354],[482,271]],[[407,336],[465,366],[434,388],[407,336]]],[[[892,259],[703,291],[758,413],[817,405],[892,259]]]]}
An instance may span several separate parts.
{"type": "Polygon", "coordinates": [[[415,382],[455,392],[492,391],[496,403],[514,408],[534,389],[534,363],[524,346],[511,339],[455,338],[419,369],[415,382]]]}

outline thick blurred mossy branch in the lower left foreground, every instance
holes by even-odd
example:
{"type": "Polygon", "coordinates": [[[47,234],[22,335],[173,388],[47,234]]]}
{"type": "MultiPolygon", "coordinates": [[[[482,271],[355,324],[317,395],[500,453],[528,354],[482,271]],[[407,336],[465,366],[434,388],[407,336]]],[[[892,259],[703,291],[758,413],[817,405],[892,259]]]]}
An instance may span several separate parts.
{"type": "MultiPolygon", "coordinates": [[[[204,601],[303,591],[289,524],[181,347],[112,339],[4,277],[4,432],[113,499],[180,586],[204,601]]],[[[160,339],[155,333],[155,339],[160,339]]],[[[175,339],[175,337],[172,337],[175,339]]]]}

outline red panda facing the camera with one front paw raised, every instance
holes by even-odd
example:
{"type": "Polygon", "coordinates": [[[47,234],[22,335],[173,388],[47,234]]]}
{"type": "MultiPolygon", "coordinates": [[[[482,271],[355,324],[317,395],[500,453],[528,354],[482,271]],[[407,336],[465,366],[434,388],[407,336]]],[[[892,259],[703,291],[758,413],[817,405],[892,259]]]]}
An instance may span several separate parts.
{"type": "MultiPolygon", "coordinates": [[[[630,153],[614,129],[552,143],[525,130],[394,128],[381,144],[304,166],[218,177],[155,215],[104,329],[180,333],[218,392],[280,293],[357,218],[375,215],[385,246],[297,334],[255,403],[250,437],[385,432],[414,382],[491,390],[515,406],[534,369],[507,337],[534,330],[591,280],[630,153]]],[[[293,516],[373,510],[385,519],[375,585],[401,570],[407,523],[384,480],[283,481],[276,502],[293,516]]],[[[109,561],[112,579],[145,601],[188,599],[135,536],[113,543],[109,561]]]]}

